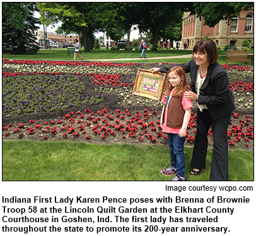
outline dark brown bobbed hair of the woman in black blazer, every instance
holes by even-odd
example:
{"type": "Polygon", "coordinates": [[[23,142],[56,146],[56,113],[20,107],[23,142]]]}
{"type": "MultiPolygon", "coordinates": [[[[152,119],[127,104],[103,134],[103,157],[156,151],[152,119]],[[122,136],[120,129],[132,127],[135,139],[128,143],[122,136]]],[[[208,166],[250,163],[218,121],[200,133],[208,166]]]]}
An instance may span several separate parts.
{"type": "Polygon", "coordinates": [[[203,39],[197,42],[193,48],[193,54],[195,52],[207,53],[209,64],[216,63],[219,58],[216,44],[209,39],[203,39]]]}

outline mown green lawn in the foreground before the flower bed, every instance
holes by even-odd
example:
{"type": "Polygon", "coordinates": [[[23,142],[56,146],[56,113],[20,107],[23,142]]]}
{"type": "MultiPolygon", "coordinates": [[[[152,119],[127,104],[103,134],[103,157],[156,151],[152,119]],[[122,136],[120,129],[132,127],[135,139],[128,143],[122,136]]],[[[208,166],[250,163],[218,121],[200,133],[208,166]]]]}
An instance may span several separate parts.
{"type": "MultiPolygon", "coordinates": [[[[212,152],[206,170],[190,176],[192,150],[184,150],[187,181],[208,181],[212,152]]],[[[230,181],[253,180],[253,152],[230,150],[229,160],[230,181]]],[[[3,142],[3,181],[170,181],[160,174],[168,166],[170,152],[162,145],[3,142]]]]}

